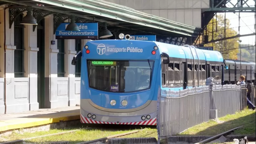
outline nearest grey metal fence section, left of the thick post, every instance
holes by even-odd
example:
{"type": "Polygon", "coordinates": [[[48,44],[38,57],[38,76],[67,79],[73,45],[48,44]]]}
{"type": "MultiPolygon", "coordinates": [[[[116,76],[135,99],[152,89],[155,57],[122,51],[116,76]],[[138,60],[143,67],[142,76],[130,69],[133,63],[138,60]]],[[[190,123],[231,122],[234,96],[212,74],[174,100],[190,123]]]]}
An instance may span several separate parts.
{"type": "Polygon", "coordinates": [[[209,86],[161,90],[160,95],[160,137],[180,133],[209,120],[209,86]]]}

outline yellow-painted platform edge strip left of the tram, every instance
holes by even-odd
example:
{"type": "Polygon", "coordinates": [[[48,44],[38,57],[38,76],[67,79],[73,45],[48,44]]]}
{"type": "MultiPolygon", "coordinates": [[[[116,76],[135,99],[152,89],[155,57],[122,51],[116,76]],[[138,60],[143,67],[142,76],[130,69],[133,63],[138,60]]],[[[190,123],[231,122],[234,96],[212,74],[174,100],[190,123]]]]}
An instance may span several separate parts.
{"type": "MultiPolygon", "coordinates": [[[[72,113],[73,114],[73,113],[72,113]]],[[[21,129],[21,128],[28,128],[28,127],[35,127],[40,125],[47,125],[51,123],[56,123],[60,121],[70,121],[70,120],[79,120],[79,115],[68,115],[68,116],[60,116],[55,118],[20,118],[14,120],[6,120],[0,122],[0,132],[2,131],[9,131],[14,129],[21,129]],[[29,120],[32,119],[32,120],[29,120]],[[16,122],[14,122],[16,121],[16,122]]]]}

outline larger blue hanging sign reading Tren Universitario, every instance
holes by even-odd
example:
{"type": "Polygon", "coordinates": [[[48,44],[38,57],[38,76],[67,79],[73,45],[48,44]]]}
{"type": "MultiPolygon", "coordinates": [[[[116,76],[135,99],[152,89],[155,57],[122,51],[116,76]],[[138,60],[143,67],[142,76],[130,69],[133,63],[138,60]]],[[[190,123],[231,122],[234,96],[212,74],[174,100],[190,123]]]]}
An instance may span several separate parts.
{"type": "Polygon", "coordinates": [[[69,23],[61,23],[56,29],[56,39],[98,39],[98,23],[76,23],[80,31],[65,31],[69,23]]]}

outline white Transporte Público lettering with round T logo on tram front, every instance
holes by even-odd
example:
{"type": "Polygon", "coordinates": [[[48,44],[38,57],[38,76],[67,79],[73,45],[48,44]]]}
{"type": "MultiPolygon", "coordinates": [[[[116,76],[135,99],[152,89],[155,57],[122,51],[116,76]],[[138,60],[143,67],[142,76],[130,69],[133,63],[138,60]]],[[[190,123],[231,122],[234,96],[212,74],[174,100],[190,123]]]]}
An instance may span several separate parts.
{"type": "Polygon", "coordinates": [[[136,53],[142,53],[143,49],[140,49],[138,47],[122,47],[122,48],[115,48],[115,47],[106,47],[104,44],[99,44],[97,46],[97,53],[99,55],[103,55],[105,52],[136,52],[136,53]]]}

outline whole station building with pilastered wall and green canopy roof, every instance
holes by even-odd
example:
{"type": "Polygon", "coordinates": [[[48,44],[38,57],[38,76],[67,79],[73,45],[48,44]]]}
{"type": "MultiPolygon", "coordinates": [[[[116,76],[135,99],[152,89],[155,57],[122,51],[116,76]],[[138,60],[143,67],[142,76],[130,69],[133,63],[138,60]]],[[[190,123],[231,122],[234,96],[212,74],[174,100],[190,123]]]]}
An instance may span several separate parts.
{"type": "Polygon", "coordinates": [[[56,39],[58,26],[74,17],[76,23],[97,22],[99,39],[156,35],[157,41],[183,45],[200,32],[100,0],[1,0],[0,7],[0,114],[80,104],[81,63],[71,61],[91,39],[56,39]]]}

